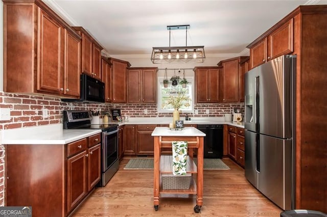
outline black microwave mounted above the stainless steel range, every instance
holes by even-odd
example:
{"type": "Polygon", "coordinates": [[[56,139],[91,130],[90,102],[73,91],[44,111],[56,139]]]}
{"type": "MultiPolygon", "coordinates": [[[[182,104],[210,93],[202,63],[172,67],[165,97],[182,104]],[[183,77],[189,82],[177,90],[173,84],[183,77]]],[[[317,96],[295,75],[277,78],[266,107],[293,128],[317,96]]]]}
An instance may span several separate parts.
{"type": "Polygon", "coordinates": [[[104,83],[86,74],[81,74],[80,99],[61,99],[65,102],[101,103],[105,102],[104,83]]]}

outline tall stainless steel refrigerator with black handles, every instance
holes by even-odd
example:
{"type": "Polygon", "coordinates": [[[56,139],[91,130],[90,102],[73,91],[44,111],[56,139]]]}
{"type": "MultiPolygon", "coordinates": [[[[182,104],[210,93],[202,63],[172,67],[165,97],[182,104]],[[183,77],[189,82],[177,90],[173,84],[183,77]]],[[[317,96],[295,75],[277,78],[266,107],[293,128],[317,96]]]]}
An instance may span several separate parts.
{"type": "Polygon", "coordinates": [[[245,74],[245,177],[284,210],[293,209],[296,56],[245,74]]]}

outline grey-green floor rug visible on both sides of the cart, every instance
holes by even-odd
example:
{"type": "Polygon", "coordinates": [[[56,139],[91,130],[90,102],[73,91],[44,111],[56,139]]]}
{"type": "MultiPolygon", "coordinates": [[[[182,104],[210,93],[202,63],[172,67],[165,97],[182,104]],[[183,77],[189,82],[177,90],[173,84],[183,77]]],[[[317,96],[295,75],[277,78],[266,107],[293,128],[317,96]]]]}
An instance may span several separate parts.
{"type": "MultiPolygon", "coordinates": [[[[196,158],[194,158],[196,162],[196,158]]],[[[125,170],[153,169],[153,158],[131,158],[124,168],[125,170]]],[[[204,158],[204,170],[230,170],[221,159],[204,158]]]]}

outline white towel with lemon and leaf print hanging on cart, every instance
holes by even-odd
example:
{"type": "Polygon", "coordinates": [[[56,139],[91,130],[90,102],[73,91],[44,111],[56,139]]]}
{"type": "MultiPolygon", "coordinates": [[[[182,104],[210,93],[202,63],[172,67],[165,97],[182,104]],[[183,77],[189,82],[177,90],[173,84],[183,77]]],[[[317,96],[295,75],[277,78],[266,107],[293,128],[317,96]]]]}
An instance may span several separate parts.
{"type": "Polygon", "coordinates": [[[186,158],[188,157],[188,142],[172,142],[173,175],[186,175],[186,158]]]}

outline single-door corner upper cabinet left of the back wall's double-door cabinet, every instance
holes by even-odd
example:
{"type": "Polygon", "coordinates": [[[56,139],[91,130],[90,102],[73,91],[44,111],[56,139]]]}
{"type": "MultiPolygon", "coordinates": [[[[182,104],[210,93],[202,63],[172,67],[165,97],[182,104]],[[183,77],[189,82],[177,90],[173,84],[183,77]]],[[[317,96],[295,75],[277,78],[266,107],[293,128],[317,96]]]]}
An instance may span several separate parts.
{"type": "Polygon", "coordinates": [[[112,82],[111,93],[112,102],[127,102],[127,67],[130,67],[130,63],[118,60],[114,58],[108,58],[111,63],[112,82]]]}

